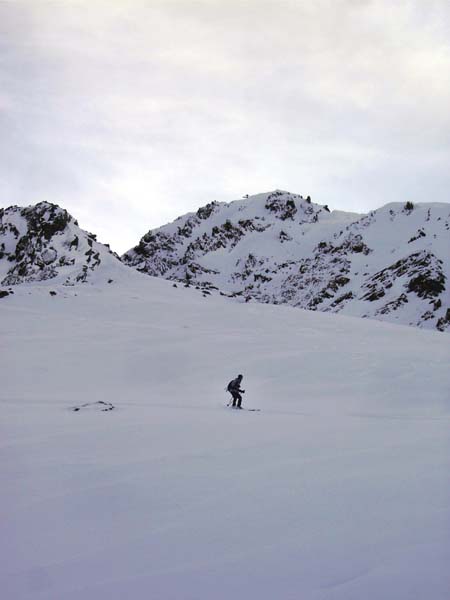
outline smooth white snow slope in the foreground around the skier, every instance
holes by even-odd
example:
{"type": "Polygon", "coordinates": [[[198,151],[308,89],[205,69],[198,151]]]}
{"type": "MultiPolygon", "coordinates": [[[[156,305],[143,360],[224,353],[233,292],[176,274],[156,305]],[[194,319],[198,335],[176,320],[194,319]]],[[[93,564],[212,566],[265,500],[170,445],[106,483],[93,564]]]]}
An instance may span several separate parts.
{"type": "Polygon", "coordinates": [[[2,598],[447,600],[448,336],[128,271],[2,300],[2,598]]]}

